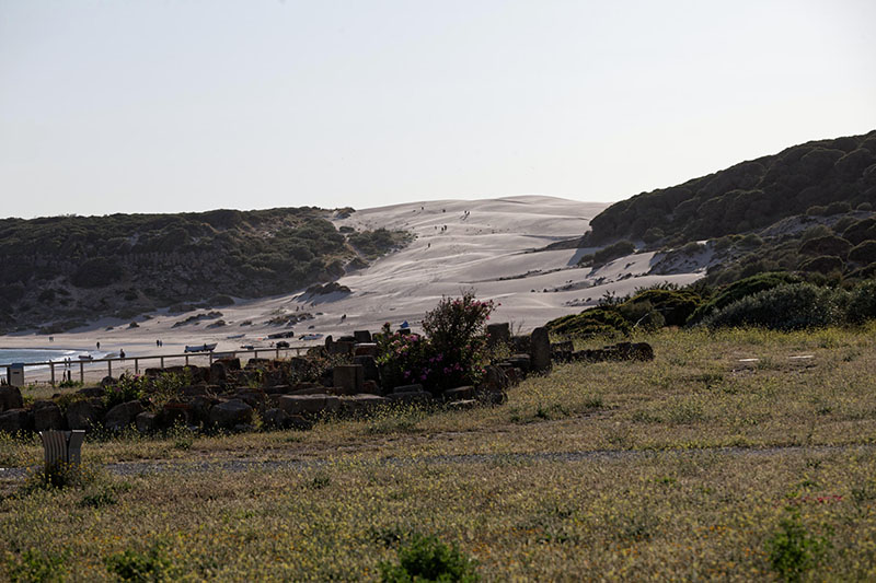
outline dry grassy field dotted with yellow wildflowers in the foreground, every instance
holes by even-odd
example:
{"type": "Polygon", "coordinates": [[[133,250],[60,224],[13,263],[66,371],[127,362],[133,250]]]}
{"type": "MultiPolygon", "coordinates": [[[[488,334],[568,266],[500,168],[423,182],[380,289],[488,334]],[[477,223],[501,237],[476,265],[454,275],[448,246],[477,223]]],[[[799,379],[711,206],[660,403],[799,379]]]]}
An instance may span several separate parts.
{"type": "Polygon", "coordinates": [[[83,486],[0,481],[0,578],[379,580],[423,534],[486,581],[876,580],[876,328],[639,339],[495,408],[87,442],[83,486]]]}

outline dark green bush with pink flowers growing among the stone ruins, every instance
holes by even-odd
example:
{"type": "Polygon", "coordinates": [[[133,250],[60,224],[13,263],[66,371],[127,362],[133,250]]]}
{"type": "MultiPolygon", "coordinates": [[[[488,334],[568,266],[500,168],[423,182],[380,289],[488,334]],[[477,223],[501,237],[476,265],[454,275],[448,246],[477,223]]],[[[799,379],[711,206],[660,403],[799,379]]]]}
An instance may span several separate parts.
{"type": "Polygon", "coordinates": [[[393,334],[383,325],[378,340],[378,364],[387,386],[419,383],[431,392],[474,384],[486,364],[486,320],[495,310],[493,301],[443,298],[426,314],[416,334],[393,334]]]}

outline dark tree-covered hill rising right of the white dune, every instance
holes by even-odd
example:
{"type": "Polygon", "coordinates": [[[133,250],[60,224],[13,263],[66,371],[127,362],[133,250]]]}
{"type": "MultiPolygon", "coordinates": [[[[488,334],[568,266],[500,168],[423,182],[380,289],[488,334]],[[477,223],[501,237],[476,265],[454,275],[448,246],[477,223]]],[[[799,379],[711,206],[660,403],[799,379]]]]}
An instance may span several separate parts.
{"type": "Polygon", "coordinates": [[[876,206],[876,130],[794,145],[622,200],[590,221],[583,246],[622,238],[679,246],[861,205],[876,206]]]}

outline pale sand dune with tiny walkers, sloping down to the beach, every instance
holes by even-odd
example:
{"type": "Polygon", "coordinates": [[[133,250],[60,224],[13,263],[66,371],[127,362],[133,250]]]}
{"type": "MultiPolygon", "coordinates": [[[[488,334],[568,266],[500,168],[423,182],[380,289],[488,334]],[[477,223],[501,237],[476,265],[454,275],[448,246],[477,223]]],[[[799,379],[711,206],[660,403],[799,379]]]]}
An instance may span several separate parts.
{"type": "MultiPolygon", "coordinates": [[[[351,334],[377,330],[384,322],[393,326],[407,320],[417,328],[423,315],[442,295],[459,295],[473,289],[480,299],[502,305],[493,322],[510,322],[523,331],[549,319],[595,305],[608,292],[624,295],[635,288],[661,281],[690,283],[702,269],[671,276],[648,276],[653,254],[612,261],[597,270],[576,266],[592,249],[533,253],[545,245],[580,236],[589,220],[607,205],[544,196],[486,200],[438,200],[360,210],[336,220],[337,226],[404,229],[416,238],[404,249],[379,259],[339,280],[351,293],[309,298],[301,292],[279,298],[240,302],[219,308],[227,323],[208,328],[210,322],[173,328],[191,314],[153,314],[128,323],[101,322],[87,329],[55,336],[12,335],[0,337],[0,347],[57,347],[92,349],[124,348],[128,357],[170,353],[184,345],[218,342],[218,350],[242,345],[269,346],[268,334],[287,328],[266,324],[278,314],[309,312],[314,318],[297,324],[297,336],[307,333],[351,334]],[[241,326],[252,322],[252,325],[241,326]],[[113,329],[106,329],[113,326],[113,329]],[[240,336],[243,335],[243,336],[240,336]],[[229,338],[232,337],[232,338],[229,338]],[[161,338],[164,347],[155,348],[161,338]]],[[[206,312],[204,310],[198,313],[206,312]]],[[[296,340],[292,340],[297,343],[296,340]]]]}

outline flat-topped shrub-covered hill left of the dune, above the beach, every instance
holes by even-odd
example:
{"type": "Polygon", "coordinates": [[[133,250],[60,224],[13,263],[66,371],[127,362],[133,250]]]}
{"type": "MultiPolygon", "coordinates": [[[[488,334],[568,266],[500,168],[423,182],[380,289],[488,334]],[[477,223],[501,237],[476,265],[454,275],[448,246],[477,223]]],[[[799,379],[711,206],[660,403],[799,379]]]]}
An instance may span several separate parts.
{"type": "Polygon", "coordinates": [[[343,275],[350,259],[361,265],[349,240],[368,258],[406,242],[396,232],[341,233],[331,214],[302,207],[0,220],[0,333],[290,292],[343,275]]]}

